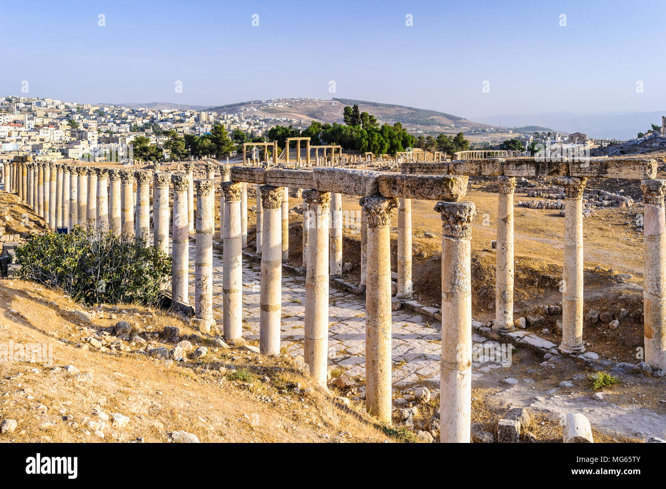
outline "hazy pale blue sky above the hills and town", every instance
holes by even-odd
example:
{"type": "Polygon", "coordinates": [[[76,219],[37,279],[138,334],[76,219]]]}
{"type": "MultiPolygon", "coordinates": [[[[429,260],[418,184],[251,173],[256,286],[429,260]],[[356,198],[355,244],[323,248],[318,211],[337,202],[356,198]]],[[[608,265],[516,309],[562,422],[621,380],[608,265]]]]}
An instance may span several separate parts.
{"type": "Polygon", "coordinates": [[[0,94],[20,94],[28,81],[29,96],[93,103],[212,106],[338,96],[468,118],[661,110],[664,7],[663,1],[11,1],[1,12],[0,94]]]}

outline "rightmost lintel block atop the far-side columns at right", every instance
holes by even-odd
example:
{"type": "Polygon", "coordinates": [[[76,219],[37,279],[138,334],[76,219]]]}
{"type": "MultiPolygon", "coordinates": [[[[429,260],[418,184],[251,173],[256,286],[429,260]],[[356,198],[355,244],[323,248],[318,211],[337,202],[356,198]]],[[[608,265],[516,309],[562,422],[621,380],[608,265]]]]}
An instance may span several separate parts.
{"type": "Polygon", "coordinates": [[[569,176],[650,179],[657,176],[657,160],[647,158],[590,158],[569,163],[569,176]]]}

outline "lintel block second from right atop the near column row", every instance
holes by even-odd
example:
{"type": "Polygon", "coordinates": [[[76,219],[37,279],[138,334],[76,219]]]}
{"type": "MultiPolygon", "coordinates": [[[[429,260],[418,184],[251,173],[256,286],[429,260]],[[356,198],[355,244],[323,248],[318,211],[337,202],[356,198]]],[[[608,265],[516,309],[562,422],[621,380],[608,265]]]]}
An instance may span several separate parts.
{"type": "Polygon", "coordinates": [[[313,186],[320,192],[347,194],[361,197],[379,194],[380,172],[348,168],[314,168],[313,186]]]}

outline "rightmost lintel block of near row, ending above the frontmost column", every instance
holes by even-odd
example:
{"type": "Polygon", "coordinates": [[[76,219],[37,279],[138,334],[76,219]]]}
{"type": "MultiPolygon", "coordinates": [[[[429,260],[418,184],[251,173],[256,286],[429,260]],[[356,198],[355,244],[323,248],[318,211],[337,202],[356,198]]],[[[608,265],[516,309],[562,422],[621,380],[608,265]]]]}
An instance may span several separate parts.
{"type": "Polygon", "coordinates": [[[379,193],[384,197],[456,202],[467,193],[468,176],[382,174],[379,193]]]}

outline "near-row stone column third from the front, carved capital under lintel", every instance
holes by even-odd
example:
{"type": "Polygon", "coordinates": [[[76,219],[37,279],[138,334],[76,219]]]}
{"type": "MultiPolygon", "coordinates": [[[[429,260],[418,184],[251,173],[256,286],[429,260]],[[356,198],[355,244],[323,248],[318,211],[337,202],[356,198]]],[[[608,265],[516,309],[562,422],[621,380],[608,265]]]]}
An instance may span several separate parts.
{"type": "Polygon", "coordinates": [[[305,278],[305,363],[321,387],[328,378],[328,211],[331,194],[306,190],[310,214],[308,269],[305,278]]]}

